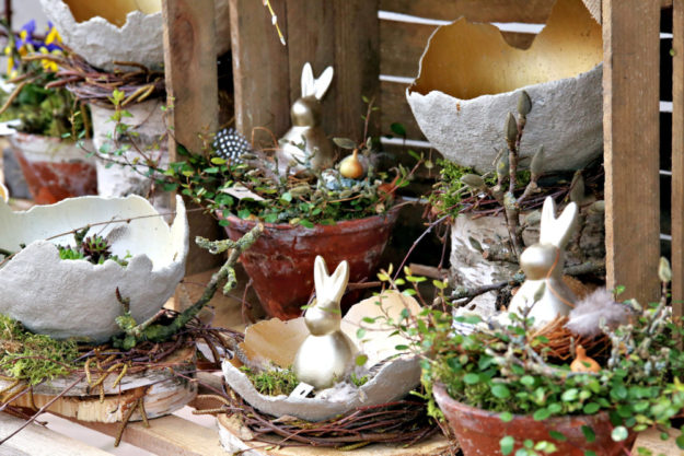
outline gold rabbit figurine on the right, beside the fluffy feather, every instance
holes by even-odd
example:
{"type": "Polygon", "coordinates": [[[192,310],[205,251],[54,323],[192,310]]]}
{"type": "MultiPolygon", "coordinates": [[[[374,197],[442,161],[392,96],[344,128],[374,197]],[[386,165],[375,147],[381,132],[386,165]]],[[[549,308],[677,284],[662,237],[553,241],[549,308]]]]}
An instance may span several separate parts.
{"type": "Polygon", "coordinates": [[[520,256],[525,281],[511,300],[508,311],[523,316],[526,307],[532,306],[528,317],[534,317],[535,327],[568,315],[577,301],[563,281],[564,250],[576,229],[577,215],[577,204],[570,202],[556,219],[556,203],[547,197],[542,209],[540,242],[520,256]]]}

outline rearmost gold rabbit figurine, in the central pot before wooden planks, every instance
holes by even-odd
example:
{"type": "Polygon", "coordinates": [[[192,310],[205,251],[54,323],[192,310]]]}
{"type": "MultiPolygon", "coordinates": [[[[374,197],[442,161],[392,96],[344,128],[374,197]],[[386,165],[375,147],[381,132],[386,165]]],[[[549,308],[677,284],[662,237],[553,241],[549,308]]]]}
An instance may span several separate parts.
{"type": "Polygon", "coordinates": [[[309,165],[312,169],[320,171],[335,164],[335,149],[321,128],[321,100],[333,82],[333,67],[327,67],[315,79],[311,63],[304,63],[302,96],[290,109],[292,127],[278,141],[278,168],[281,173],[288,167],[290,172],[299,172],[309,165]]]}

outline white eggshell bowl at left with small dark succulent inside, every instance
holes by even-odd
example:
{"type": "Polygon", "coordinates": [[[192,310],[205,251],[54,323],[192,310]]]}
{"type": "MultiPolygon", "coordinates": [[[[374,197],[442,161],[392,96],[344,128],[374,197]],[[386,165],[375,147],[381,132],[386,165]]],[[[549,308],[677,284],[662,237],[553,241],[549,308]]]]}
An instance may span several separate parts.
{"type": "Polygon", "coordinates": [[[183,279],[188,250],[185,206],[176,198],[176,217],[169,226],[138,196],[71,198],[25,212],[13,212],[0,200],[0,247],[18,252],[0,266],[0,314],[55,339],[103,342],[120,332],[115,323],[123,314],[117,288],[130,300],[132,317],[143,321],[164,305],[183,279]],[[108,221],[93,226],[91,233],[106,237],[112,254],[119,258],[130,253],[128,266],[59,258],[56,244],[74,244],[72,234],[60,234],[108,221]],[[60,236],[50,238],[56,235],[60,236]],[[21,244],[26,247],[21,249],[21,244]]]}

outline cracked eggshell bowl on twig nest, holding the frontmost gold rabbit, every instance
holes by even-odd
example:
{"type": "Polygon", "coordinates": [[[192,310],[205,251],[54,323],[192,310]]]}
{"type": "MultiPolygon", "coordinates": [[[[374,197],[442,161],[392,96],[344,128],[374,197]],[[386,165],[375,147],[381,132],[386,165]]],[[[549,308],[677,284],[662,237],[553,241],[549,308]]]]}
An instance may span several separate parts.
{"type": "MultiPolygon", "coordinates": [[[[259,394],[250,378],[230,361],[223,361],[223,374],[228,385],[252,407],[275,417],[291,416],[306,421],[322,421],[358,407],[387,404],[405,396],[420,382],[420,365],[413,355],[397,354],[395,347],[406,344],[401,336],[389,337],[393,329],[363,323],[368,328],[362,340],[356,336],[363,317],[381,316],[375,304],[378,297],[370,297],[351,306],[343,318],[341,330],[353,340],[361,353],[368,355],[366,366],[376,366],[376,373],[361,387],[337,384],[324,389],[313,398],[266,396],[259,394]],[[392,359],[391,359],[392,358],[392,359]],[[379,364],[380,363],[380,364],[379,364]]],[[[387,292],[383,295],[382,307],[398,320],[402,309],[408,308],[413,315],[420,312],[418,303],[409,296],[387,292]]],[[[302,341],[309,336],[304,318],[282,321],[278,318],[259,321],[245,331],[245,340],[240,344],[245,355],[262,365],[275,363],[280,367],[292,365],[302,341]]],[[[371,372],[375,371],[371,370],[371,372]]]]}

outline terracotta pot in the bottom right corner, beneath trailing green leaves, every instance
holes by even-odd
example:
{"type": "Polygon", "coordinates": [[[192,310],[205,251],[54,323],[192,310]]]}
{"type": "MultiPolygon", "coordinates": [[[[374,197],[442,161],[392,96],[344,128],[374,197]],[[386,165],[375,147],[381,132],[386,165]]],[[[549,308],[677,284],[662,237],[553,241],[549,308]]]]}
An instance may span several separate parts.
{"type": "Polygon", "coordinates": [[[532,416],[514,414],[511,421],[503,422],[497,412],[469,407],[452,399],[443,385],[436,384],[432,393],[465,456],[500,456],[499,442],[506,435],[515,439],[515,449],[521,448],[522,443],[530,439],[534,442],[554,443],[558,447],[555,454],[563,456],[584,456],[587,449],[593,451],[598,456],[617,456],[623,454],[623,445],[627,448],[631,446],[636,436],[630,435],[626,442],[613,442],[613,425],[605,412],[553,417],[542,421],[534,420],[532,416]],[[596,435],[591,444],[587,443],[582,433],[583,425],[591,428],[596,435]],[[549,431],[560,432],[567,441],[554,440],[549,431]]]}

